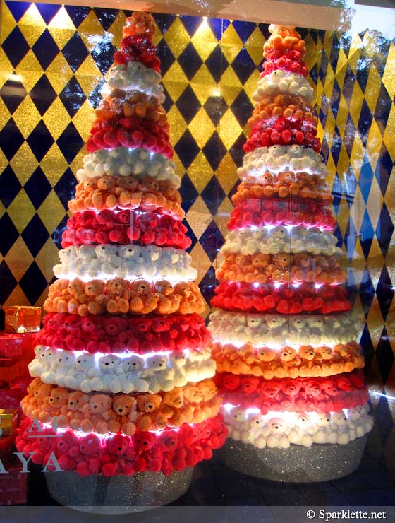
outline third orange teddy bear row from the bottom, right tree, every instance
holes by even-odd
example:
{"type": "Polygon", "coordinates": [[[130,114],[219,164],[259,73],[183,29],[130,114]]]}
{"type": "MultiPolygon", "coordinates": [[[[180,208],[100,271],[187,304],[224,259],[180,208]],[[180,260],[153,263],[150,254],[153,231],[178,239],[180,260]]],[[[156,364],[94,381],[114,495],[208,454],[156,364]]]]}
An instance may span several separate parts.
{"type": "Polygon", "coordinates": [[[233,194],[233,204],[240,201],[260,198],[288,198],[299,196],[317,200],[332,201],[333,197],[328,191],[324,177],[309,175],[307,172],[295,173],[282,171],[278,175],[271,172],[261,172],[260,175],[245,179],[233,194]]]}

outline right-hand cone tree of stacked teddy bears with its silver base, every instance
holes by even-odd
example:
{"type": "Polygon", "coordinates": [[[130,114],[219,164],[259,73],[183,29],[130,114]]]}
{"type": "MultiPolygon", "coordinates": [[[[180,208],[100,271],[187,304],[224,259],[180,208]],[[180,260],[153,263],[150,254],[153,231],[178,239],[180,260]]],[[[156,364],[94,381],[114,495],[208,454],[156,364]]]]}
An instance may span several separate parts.
{"type": "MultiPolygon", "coordinates": [[[[269,31],[209,331],[231,438],[231,450],[219,454],[247,474],[286,479],[291,462],[287,471],[284,458],[296,446],[326,444],[320,452],[334,452],[347,445],[351,452],[372,417],[341,286],[346,274],[332,234],[305,43],[294,28],[270,25],[269,31]],[[259,461],[241,459],[241,452],[256,449],[265,449],[260,455],[269,473],[259,461]],[[278,449],[289,450],[275,470],[270,456],[281,458],[278,449]]],[[[317,464],[321,471],[328,466],[324,459],[317,464]]],[[[336,476],[348,469],[327,471],[336,476]]]]}

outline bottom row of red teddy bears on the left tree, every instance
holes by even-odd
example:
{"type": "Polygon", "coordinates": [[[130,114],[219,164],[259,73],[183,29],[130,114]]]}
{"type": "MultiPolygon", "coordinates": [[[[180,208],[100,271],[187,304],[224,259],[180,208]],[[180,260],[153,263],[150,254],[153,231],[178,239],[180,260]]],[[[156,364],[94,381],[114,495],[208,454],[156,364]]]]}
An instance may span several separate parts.
{"type": "Polygon", "coordinates": [[[168,476],[174,470],[210,459],[212,449],[224,445],[228,432],[220,416],[198,425],[186,424],[178,430],[163,430],[159,435],[137,432],[131,437],[116,434],[106,439],[93,433],[78,437],[73,430],[59,434],[51,428],[42,429],[39,437],[31,437],[35,433],[30,430],[31,424],[25,418],[20,425],[16,437],[18,451],[31,453],[32,462],[37,464],[47,463],[54,452],[63,471],[77,471],[80,476],[130,476],[146,470],[162,471],[168,476]]]}

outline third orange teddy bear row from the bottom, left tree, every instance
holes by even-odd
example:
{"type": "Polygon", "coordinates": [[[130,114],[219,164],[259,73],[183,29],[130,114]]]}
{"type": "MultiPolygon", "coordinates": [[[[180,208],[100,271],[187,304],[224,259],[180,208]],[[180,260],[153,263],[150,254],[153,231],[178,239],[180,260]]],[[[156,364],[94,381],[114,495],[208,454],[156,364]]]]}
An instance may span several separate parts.
{"type": "Polygon", "coordinates": [[[157,182],[151,177],[138,180],[132,176],[103,175],[78,184],[75,199],[68,202],[72,213],[86,209],[139,209],[157,211],[182,220],[181,196],[167,180],[157,182]]]}

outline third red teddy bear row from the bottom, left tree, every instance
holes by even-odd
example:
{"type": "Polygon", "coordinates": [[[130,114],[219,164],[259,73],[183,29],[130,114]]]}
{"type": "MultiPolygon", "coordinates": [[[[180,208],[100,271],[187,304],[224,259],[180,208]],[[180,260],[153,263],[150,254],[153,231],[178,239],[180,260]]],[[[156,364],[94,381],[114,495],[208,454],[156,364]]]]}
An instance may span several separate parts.
{"type": "Polygon", "coordinates": [[[192,240],[186,236],[187,231],[186,225],[166,214],[129,210],[115,213],[107,209],[98,213],[85,211],[68,218],[61,245],[64,249],[71,245],[138,242],[188,249],[192,240]]]}

